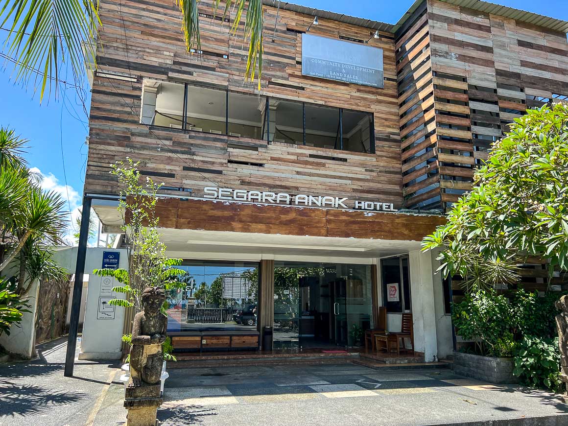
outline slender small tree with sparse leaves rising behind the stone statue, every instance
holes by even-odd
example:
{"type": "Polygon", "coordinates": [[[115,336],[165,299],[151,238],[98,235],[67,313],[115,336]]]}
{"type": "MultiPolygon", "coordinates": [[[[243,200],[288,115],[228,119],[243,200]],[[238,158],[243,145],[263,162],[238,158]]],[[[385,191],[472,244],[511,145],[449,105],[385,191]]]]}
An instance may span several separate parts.
{"type": "Polygon", "coordinates": [[[179,278],[186,272],[174,268],[181,259],[170,259],[165,255],[166,245],[160,241],[157,230],[160,218],[156,216],[158,185],[147,177],[145,185],[140,183],[138,163],[127,157],[127,164],[117,161],[111,174],[118,177],[122,189],[118,211],[124,225],[122,230],[128,243],[128,270],[95,269],[94,274],[114,277],[121,285],[112,289],[126,295],[126,299],[112,299],[111,305],[134,307],[142,310],[142,292],[147,286],[164,287],[165,290],[185,288],[179,278]]]}

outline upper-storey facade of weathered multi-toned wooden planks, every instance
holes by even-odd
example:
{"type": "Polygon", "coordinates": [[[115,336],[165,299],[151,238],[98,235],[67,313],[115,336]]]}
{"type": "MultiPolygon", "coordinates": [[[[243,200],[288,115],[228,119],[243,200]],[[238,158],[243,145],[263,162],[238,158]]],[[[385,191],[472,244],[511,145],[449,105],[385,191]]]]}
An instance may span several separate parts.
{"type": "Polygon", "coordinates": [[[320,15],[311,26],[310,34],[381,48],[383,89],[303,76],[302,33],[318,11],[265,5],[258,90],[244,79],[242,23],[231,36],[234,16],[223,22],[213,4],[199,2],[202,53],[195,54],[186,52],[171,0],[101,2],[86,192],[115,194],[110,164],[130,156],[143,174],[197,197],[219,186],[443,211],[470,189],[476,166],[511,120],[568,95],[566,34],[438,0],[415,3],[396,26],[381,24],[392,32],[379,31],[378,39],[379,23],[371,21],[320,15]],[[141,124],[150,80],[366,111],[375,152],[141,124]]]}

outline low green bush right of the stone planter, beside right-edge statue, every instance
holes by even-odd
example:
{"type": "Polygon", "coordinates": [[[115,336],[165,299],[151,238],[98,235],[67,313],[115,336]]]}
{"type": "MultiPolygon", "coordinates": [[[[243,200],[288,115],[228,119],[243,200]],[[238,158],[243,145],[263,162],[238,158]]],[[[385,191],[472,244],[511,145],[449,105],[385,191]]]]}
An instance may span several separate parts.
{"type": "Polygon", "coordinates": [[[525,336],[514,351],[515,369],[523,385],[562,392],[558,339],[525,336]]]}

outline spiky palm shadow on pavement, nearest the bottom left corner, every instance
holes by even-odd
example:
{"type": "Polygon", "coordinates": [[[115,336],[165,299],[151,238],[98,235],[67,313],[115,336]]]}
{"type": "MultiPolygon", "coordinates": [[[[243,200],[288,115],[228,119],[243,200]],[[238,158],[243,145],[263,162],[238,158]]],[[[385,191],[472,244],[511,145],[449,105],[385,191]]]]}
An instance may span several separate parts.
{"type": "Polygon", "coordinates": [[[44,414],[57,406],[89,398],[82,392],[51,391],[43,386],[0,382],[0,416],[44,414]]]}

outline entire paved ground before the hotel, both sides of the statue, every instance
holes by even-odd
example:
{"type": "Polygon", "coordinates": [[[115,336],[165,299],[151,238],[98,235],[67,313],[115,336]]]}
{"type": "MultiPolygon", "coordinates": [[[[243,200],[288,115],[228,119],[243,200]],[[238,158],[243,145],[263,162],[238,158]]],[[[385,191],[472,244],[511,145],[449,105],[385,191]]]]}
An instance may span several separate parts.
{"type": "MultiPolygon", "coordinates": [[[[126,424],[119,364],[76,361],[76,377],[66,378],[65,349],[59,339],[39,346],[39,360],[0,365],[0,425],[126,424]]],[[[491,385],[450,369],[174,362],[168,371],[162,426],[568,425],[559,395],[491,385]]]]}

